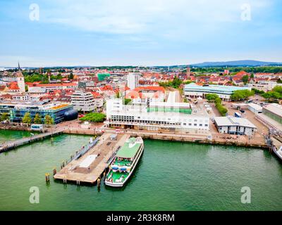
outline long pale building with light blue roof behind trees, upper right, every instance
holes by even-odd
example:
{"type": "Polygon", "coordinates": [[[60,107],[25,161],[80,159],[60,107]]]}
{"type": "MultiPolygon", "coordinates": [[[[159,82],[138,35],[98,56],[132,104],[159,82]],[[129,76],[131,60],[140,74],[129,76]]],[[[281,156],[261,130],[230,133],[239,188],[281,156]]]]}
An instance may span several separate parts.
{"type": "Polygon", "coordinates": [[[251,90],[247,86],[222,86],[222,85],[205,85],[200,86],[195,83],[184,86],[184,94],[190,98],[205,98],[207,94],[217,94],[223,101],[231,101],[231,94],[234,91],[251,90]]]}

